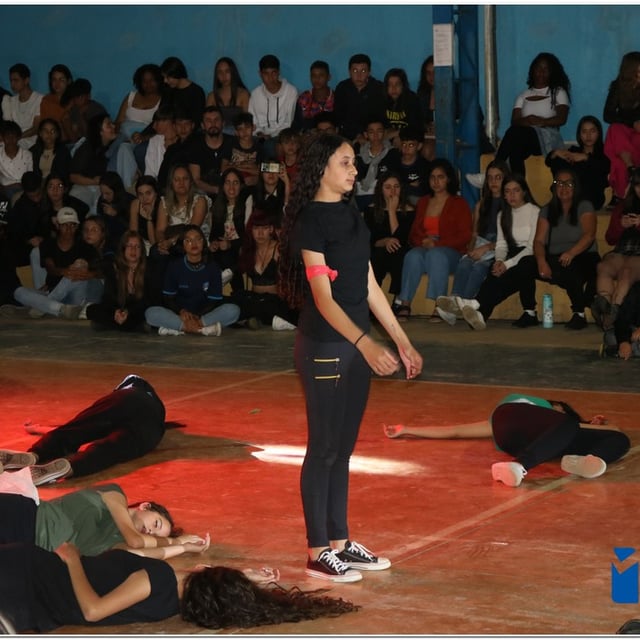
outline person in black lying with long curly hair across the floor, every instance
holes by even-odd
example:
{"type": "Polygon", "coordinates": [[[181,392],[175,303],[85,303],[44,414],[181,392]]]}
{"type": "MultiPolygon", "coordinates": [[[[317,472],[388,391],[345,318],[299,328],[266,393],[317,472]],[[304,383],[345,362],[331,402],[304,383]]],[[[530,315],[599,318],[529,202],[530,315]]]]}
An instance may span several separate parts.
{"type": "Polygon", "coordinates": [[[55,552],[24,543],[0,545],[0,613],[21,633],[153,622],[178,613],[208,629],[247,628],[358,608],[341,598],[284,589],[274,583],[278,578],[277,570],[266,568],[177,569],[121,549],[83,557],[66,542],[55,552]]]}

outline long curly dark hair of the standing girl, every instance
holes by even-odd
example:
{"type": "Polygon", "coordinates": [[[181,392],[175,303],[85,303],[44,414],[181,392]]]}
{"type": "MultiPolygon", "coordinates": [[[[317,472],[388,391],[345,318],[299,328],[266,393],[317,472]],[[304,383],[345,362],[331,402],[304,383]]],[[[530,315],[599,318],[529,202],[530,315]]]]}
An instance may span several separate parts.
{"type": "Polygon", "coordinates": [[[291,246],[293,228],[300,212],[318,193],[329,158],[343,144],[351,143],[341,136],[321,134],[311,138],[302,149],[298,173],[280,232],[279,294],[292,309],[302,306],[304,285],[302,261],[291,246]]]}

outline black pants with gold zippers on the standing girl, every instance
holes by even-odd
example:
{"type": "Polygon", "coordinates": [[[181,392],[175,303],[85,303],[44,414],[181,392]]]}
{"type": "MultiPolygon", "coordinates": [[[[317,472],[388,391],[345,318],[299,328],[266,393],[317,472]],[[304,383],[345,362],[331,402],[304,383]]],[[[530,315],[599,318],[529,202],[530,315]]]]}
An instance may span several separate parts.
{"type": "Polygon", "coordinates": [[[349,458],[358,438],[371,370],[349,342],[318,342],[298,332],[296,368],[307,405],[307,452],[300,490],[310,547],[349,537],[349,458]]]}

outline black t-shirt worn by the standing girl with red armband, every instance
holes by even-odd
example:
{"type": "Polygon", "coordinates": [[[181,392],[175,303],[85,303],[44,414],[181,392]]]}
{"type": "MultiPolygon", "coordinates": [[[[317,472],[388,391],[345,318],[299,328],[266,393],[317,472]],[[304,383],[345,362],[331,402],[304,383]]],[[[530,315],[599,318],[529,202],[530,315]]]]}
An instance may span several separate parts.
{"type": "MultiPolygon", "coordinates": [[[[296,223],[293,247],[296,252],[306,249],[324,254],[327,266],[338,272],[331,283],[333,299],[358,327],[368,331],[369,230],[360,212],[346,202],[309,203],[296,223]]],[[[320,342],[344,340],[318,311],[310,290],[298,328],[320,342]]]]}

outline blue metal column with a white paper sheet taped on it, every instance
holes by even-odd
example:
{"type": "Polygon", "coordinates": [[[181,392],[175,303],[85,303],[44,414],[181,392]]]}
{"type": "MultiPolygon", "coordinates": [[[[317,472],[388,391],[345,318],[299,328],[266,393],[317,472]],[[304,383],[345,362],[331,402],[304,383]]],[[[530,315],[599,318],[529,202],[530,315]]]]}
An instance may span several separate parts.
{"type": "Polygon", "coordinates": [[[436,155],[456,164],[453,6],[433,7],[436,155]]]}

